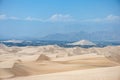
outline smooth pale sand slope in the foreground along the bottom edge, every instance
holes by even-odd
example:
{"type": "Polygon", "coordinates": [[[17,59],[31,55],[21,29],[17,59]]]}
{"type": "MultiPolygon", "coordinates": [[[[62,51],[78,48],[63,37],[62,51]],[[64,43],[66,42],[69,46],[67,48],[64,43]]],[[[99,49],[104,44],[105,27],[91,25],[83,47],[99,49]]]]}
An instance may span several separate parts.
{"type": "Polygon", "coordinates": [[[120,66],[18,77],[6,80],[120,80],[120,66]]]}

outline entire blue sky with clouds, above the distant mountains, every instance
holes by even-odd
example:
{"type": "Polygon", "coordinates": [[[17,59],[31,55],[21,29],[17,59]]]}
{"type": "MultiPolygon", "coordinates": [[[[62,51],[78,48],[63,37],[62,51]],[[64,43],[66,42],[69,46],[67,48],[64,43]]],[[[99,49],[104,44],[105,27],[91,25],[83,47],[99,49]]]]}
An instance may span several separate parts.
{"type": "Polygon", "coordinates": [[[1,38],[120,30],[120,0],[0,0],[1,38]]]}

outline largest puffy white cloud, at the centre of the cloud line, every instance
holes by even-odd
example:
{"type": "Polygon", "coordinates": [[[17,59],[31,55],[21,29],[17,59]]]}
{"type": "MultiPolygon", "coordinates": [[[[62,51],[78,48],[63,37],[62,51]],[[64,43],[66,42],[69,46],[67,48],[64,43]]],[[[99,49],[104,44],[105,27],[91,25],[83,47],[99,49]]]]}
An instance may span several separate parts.
{"type": "Polygon", "coordinates": [[[63,14],[54,14],[52,15],[48,21],[51,22],[70,22],[70,21],[74,21],[74,19],[72,18],[72,16],[70,15],[63,15],[63,14]]]}

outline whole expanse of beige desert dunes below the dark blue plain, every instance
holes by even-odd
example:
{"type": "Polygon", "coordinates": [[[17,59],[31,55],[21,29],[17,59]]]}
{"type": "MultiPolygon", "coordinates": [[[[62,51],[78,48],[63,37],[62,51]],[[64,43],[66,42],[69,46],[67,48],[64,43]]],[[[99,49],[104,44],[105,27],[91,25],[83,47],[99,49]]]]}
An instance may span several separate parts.
{"type": "Polygon", "coordinates": [[[0,46],[0,80],[120,80],[120,46],[0,46]]]}

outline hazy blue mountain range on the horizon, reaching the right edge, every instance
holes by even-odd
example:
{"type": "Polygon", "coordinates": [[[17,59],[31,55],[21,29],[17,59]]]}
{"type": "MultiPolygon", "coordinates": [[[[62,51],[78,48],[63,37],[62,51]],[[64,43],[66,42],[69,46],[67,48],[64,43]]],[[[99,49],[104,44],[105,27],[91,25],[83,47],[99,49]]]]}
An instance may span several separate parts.
{"type": "Polygon", "coordinates": [[[73,32],[66,34],[51,34],[40,38],[41,40],[56,40],[56,41],[79,41],[79,40],[90,40],[90,41],[120,41],[120,32],[108,32],[108,31],[97,31],[97,32],[73,32]]]}

